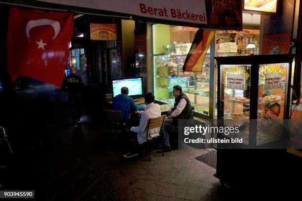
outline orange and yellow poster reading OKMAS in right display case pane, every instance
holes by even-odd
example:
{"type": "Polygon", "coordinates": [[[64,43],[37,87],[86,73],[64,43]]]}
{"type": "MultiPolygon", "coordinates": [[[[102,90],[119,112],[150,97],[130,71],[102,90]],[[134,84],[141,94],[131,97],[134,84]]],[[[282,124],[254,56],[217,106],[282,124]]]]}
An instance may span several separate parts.
{"type": "Polygon", "coordinates": [[[288,64],[260,65],[258,109],[264,119],[283,119],[288,64]]]}

